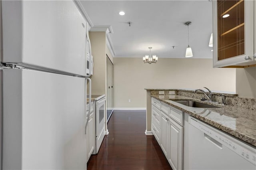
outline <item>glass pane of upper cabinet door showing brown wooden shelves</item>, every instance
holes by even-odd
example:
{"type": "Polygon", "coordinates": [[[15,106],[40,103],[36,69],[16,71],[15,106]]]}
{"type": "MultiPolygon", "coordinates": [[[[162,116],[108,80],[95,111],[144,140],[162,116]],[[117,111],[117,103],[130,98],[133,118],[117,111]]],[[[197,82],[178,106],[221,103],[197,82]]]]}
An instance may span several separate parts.
{"type": "Polygon", "coordinates": [[[244,55],[244,0],[218,0],[218,60],[244,55]]]}

